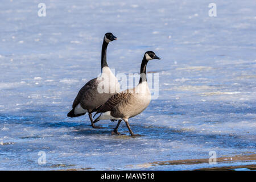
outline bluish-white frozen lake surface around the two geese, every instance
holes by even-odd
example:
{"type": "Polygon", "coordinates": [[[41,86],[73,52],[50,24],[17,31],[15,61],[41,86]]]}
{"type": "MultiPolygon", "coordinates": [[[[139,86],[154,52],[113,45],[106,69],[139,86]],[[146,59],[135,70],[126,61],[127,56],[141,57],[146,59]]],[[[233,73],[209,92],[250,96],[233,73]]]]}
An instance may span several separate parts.
{"type": "MultiPolygon", "coordinates": [[[[214,1],[5,1],[0,6],[0,169],[211,167],[152,162],[255,154],[256,3],[214,1]],[[113,32],[108,64],[138,73],[143,53],[160,61],[159,97],[112,136],[117,122],[92,129],[68,118],[79,89],[100,73],[103,35],[113,32]],[[38,152],[46,164],[38,164],[38,152]]],[[[216,166],[255,164],[255,161],[216,166]]]]}

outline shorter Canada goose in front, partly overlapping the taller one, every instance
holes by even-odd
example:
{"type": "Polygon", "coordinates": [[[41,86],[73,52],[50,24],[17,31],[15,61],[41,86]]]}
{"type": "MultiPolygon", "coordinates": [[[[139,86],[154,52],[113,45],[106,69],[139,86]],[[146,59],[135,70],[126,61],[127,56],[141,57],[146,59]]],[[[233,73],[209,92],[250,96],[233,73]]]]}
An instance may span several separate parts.
{"type": "Polygon", "coordinates": [[[154,52],[147,51],[141,63],[141,78],[139,84],[133,89],[127,89],[121,93],[114,94],[105,104],[98,107],[96,114],[101,113],[101,115],[95,119],[93,123],[104,119],[117,119],[118,124],[114,131],[112,131],[112,134],[119,134],[117,129],[123,119],[130,131],[130,135],[140,136],[131,131],[128,119],[142,113],[150,104],[151,93],[147,84],[146,67],[148,61],[152,59],[160,58],[156,56],[154,52]]]}

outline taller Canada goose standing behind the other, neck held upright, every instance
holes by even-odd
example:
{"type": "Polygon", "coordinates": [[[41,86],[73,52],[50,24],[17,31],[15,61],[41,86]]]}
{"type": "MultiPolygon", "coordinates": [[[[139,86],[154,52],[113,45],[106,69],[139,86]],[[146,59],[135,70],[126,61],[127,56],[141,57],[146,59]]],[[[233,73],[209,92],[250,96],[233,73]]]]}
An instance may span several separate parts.
{"type": "Polygon", "coordinates": [[[117,40],[117,38],[112,33],[106,33],[104,35],[101,50],[101,76],[88,81],[79,90],[72,105],[73,109],[68,113],[68,117],[79,117],[88,112],[93,128],[101,128],[96,127],[93,123],[93,110],[104,104],[113,94],[118,93],[120,90],[118,80],[109,69],[106,61],[106,49],[109,42],[113,40],[117,40]]]}

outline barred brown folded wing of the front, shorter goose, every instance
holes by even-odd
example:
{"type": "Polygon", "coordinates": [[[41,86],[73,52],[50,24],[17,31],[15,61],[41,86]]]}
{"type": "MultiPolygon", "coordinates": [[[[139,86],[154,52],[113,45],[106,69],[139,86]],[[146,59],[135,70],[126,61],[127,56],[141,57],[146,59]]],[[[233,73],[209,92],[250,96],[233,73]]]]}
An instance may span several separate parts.
{"type": "MultiPolygon", "coordinates": [[[[96,114],[105,113],[106,111],[112,111],[117,104],[126,100],[126,98],[129,96],[129,94],[130,94],[129,92],[121,92],[121,93],[114,94],[112,97],[109,98],[108,101],[106,101],[103,105],[101,105],[97,109],[96,114]]],[[[94,114],[94,116],[96,114],[94,114]]]]}

